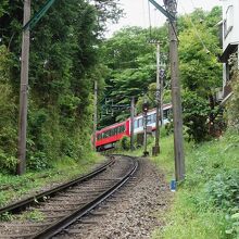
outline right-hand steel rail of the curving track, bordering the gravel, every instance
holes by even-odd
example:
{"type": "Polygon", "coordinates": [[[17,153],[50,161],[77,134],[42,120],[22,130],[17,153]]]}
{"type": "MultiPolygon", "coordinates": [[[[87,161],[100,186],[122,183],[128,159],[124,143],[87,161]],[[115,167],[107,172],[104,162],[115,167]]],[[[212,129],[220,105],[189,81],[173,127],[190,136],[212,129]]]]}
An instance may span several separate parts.
{"type": "Polygon", "coordinates": [[[84,205],[83,207],[77,209],[71,215],[67,215],[63,217],[62,219],[59,219],[56,223],[43,229],[38,235],[32,237],[32,239],[52,238],[53,236],[58,235],[59,232],[64,230],[66,227],[68,227],[70,225],[78,221],[80,217],[88,214],[92,209],[97,207],[101,202],[103,202],[105,199],[112,196],[118,188],[125,185],[125,183],[135,174],[138,167],[138,161],[136,161],[134,158],[130,158],[130,156],[127,156],[127,158],[131,160],[133,167],[120,181],[114,184],[110,189],[108,189],[105,192],[100,194],[98,198],[93,199],[88,204],[84,205]]]}

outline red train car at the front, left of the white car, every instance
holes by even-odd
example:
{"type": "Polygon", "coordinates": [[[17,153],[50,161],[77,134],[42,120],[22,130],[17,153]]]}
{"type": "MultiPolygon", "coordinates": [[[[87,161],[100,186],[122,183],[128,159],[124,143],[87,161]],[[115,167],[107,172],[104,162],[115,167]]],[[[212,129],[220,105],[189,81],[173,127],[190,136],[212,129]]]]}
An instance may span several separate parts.
{"type": "Polygon", "coordinates": [[[115,142],[120,141],[124,136],[130,136],[129,120],[102,128],[97,131],[97,151],[114,148],[115,142]]]}

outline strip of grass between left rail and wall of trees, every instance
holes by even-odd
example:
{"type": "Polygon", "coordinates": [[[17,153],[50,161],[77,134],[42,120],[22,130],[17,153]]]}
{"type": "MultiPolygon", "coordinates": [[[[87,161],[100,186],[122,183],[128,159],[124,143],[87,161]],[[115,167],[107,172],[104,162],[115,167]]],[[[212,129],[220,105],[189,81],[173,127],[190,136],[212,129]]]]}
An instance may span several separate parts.
{"type": "MultiPolygon", "coordinates": [[[[47,188],[54,183],[62,183],[87,173],[95,163],[104,158],[91,154],[76,163],[72,159],[54,162],[52,168],[41,172],[28,172],[23,176],[3,175],[0,173],[0,206],[26,198],[29,193],[47,188]]],[[[8,216],[7,216],[8,217],[8,216]]]]}

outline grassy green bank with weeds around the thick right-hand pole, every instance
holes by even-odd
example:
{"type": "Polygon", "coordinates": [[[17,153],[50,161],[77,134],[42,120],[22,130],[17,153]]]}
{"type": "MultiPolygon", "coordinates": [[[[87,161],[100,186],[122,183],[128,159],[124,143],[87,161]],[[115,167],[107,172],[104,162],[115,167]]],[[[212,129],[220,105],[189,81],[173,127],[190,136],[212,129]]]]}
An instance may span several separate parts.
{"type": "MultiPolygon", "coordinates": [[[[152,161],[169,181],[174,174],[173,137],[164,137],[161,148],[162,153],[152,161]]],[[[166,226],[152,238],[238,239],[239,136],[227,133],[199,146],[185,143],[185,152],[186,180],[174,194],[166,226]]]]}

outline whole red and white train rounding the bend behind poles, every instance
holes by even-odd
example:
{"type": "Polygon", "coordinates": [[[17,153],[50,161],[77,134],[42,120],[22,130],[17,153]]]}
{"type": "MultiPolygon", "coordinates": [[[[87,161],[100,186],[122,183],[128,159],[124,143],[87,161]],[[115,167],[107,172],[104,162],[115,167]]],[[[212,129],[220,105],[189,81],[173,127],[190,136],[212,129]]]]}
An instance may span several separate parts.
{"type": "MultiPolygon", "coordinates": [[[[163,105],[163,123],[168,123],[168,115],[172,111],[172,104],[163,105]]],[[[155,130],[156,110],[150,110],[147,114],[147,126],[151,126],[155,130]]],[[[134,121],[134,134],[138,135],[143,133],[143,114],[139,114],[134,121]]],[[[124,136],[130,137],[130,118],[124,122],[116,123],[98,130],[96,134],[96,148],[97,151],[103,151],[114,148],[115,142],[120,141],[124,136]]]]}

